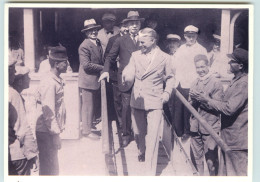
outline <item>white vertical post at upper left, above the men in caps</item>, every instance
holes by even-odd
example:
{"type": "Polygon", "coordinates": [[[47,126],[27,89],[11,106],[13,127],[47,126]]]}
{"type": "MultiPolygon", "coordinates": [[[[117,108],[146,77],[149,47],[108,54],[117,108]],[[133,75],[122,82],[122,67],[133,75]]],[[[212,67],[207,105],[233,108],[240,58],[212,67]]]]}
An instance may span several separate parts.
{"type": "Polygon", "coordinates": [[[23,10],[24,19],[24,64],[31,71],[35,70],[35,44],[34,44],[34,23],[33,23],[33,9],[23,10]]]}

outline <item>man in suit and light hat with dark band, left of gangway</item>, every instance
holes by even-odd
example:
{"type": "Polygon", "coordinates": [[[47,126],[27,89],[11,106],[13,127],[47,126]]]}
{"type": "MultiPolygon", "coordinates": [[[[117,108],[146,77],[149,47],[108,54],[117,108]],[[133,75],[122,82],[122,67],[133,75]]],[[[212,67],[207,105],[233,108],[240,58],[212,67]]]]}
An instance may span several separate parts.
{"type": "Polygon", "coordinates": [[[100,137],[91,132],[92,123],[95,119],[95,113],[100,109],[100,83],[98,78],[103,70],[102,47],[97,39],[100,25],[96,24],[94,19],[84,22],[82,33],[86,35],[85,40],[80,44],[79,52],[79,88],[82,94],[82,134],[83,136],[98,140],[100,137]]]}

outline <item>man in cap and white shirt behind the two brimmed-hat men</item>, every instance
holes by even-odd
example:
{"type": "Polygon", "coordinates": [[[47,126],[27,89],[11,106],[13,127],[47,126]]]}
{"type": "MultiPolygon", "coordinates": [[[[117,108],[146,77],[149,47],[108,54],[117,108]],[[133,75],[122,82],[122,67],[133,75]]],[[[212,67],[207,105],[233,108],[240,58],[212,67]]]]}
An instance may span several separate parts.
{"type": "Polygon", "coordinates": [[[103,51],[106,50],[109,38],[119,33],[119,28],[115,26],[116,16],[112,13],[105,13],[102,16],[103,28],[98,31],[97,38],[100,40],[103,51]]]}

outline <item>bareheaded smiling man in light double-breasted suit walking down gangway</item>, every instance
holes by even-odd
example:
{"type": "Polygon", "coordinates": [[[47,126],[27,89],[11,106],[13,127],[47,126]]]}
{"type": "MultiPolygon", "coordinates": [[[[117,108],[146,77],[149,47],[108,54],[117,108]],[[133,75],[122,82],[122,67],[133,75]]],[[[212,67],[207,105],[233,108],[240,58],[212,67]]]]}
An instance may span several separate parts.
{"type": "Polygon", "coordinates": [[[175,82],[170,56],[156,45],[156,38],[151,28],[139,32],[141,50],[132,53],[122,74],[123,84],[134,82],[130,101],[132,126],[138,160],[145,161],[146,175],[156,174],[163,104],[169,100],[175,82]]]}

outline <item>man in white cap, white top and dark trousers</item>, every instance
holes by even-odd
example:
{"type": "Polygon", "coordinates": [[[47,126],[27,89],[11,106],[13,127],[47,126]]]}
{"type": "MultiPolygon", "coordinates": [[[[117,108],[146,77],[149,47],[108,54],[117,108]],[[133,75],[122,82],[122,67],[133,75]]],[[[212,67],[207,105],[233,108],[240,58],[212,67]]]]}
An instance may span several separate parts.
{"type": "MultiPolygon", "coordinates": [[[[189,25],[184,29],[185,44],[181,45],[175,53],[176,86],[177,90],[188,100],[191,83],[196,78],[194,57],[198,54],[207,55],[207,51],[198,42],[199,29],[189,25]]],[[[190,133],[190,112],[182,102],[174,97],[173,124],[177,136],[183,141],[189,138],[190,133]]]]}

